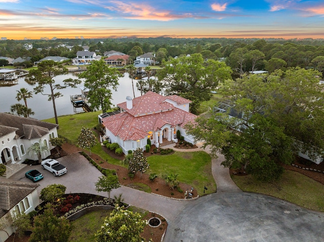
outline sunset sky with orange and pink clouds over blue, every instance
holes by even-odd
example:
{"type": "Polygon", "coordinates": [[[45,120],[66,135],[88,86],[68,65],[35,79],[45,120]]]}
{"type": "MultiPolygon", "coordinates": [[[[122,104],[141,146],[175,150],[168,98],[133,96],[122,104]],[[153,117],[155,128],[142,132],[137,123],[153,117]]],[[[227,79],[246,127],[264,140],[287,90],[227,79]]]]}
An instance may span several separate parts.
{"type": "Polygon", "coordinates": [[[0,0],[0,37],[324,38],[324,0],[0,0]]]}

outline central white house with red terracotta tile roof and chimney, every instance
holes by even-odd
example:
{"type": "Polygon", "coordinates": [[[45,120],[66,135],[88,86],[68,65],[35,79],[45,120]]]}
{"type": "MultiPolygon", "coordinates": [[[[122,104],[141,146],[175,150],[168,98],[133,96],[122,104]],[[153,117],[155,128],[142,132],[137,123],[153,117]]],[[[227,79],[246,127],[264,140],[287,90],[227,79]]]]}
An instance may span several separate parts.
{"type": "Polygon", "coordinates": [[[163,96],[152,91],[135,99],[127,96],[126,100],[117,105],[119,114],[101,119],[105,138],[118,143],[125,154],[138,147],[144,149],[148,138],[157,148],[167,141],[177,142],[177,130],[186,141],[194,142],[184,128],[197,117],[189,113],[191,101],[178,95],[163,96]]]}

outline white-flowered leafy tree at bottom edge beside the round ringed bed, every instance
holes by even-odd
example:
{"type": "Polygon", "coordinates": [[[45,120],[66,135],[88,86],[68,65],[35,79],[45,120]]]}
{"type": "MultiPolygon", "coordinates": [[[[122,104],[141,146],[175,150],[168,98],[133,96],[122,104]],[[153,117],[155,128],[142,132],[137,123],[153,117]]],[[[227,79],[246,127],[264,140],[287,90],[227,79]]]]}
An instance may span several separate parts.
{"type": "Polygon", "coordinates": [[[95,234],[97,242],[138,242],[144,241],[143,232],[146,220],[136,212],[115,208],[109,218],[106,218],[101,228],[95,234]]]}

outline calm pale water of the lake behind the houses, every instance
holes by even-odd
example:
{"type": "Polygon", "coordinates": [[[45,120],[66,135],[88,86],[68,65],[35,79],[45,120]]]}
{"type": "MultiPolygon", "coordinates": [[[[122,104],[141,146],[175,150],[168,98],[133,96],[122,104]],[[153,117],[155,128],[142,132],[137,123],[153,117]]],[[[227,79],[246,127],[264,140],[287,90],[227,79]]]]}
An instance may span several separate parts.
{"type": "MultiPolygon", "coordinates": [[[[78,73],[68,73],[66,75],[56,76],[55,82],[57,84],[63,84],[63,80],[67,78],[77,79],[78,73]]],[[[134,81],[135,96],[140,96],[141,93],[136,88],[136,80],[134,81]]],[[[78,86],[82,86],[80,84],[78,86]]],[[[21,103],[24,105],[23,101],[18,102],[16,100],[17,90],[22,87],[27,88],[29,91],[33,91],[36,85],[28,84],[24,78],[20,78],[18,84],[13,86],[0,86],[0,112],[10,112],[10,106],[16,103],[21,103]]],[[[81,94],[79,88],[67,87],[65,89],[58,90],[63,96],[55,100],[57,115],[67,115],[73,114],[73,106],[70,102],[70,95],[81,94]]],[[[50,88],[45,88],[44,93],[50,93],[50,88]]],[[[129,78],[128,73],[125,73],[123,77],[119,78],[119,85],[117,91],[112,91],[112,104],[117,105],[119,103],[126,102],[126,96],[131,96],[133,98],[133,88],[132,79],[129,78]]],[[[31,118],[36,119],[48,119],[54,117],[54,110],[52,101],[48,101],[47,95],[42,95],[41,93],[34,94],[33,98],[27,99],[28,108],[30,108],[35,115],[31,115],[31,118]]],[[[82,109],[77,109],[77,111],[82,111],[82,109]]]]}

